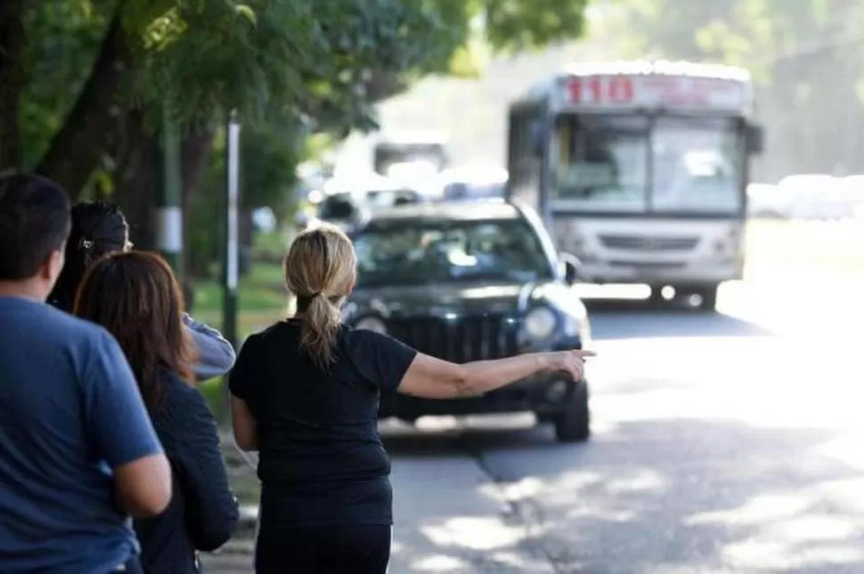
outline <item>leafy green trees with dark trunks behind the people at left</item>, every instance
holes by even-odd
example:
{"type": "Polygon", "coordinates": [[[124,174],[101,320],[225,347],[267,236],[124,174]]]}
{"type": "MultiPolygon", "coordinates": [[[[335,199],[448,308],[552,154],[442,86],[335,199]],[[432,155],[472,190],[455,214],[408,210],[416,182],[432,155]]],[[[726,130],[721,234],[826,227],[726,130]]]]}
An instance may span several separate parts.
{"type": "Polygon", "coordinates": [[[370,128],[376,102],[428,74],[475,72],[484,46],[579,36],[586,2],[6,0],[0,168],[35,169],[76,198],[114,194],[147,236],[163,118],[183,127],[184,205],[200,187],[213,206],[219,126],[236,109],[248,206],[284,211],[308,134],[370,128]]]}

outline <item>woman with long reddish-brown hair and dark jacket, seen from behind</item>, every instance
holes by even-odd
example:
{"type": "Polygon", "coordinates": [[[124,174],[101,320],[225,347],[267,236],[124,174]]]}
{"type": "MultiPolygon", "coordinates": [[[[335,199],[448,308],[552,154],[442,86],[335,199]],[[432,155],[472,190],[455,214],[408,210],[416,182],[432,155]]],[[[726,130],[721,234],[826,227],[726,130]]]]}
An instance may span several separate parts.
{"type": "Polygon", "coordinates": [[[174,496],[167,510],[134,522],[144,572],[199,572],[198,551],[227,542],[240,514],[216,420],[191,384],[192,344],[183,329],[183,295],[174,274],[158,255],[103,257],[81,281],[75,314],[117,339],[171,463],[174,496]]]}

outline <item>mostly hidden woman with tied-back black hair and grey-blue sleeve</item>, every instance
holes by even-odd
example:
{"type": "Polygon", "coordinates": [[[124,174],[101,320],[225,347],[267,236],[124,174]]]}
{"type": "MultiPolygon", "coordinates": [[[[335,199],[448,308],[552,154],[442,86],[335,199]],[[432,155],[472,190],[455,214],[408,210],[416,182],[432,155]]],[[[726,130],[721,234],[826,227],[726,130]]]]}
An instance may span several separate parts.
{"type": "MultiPolygon", "coordinates": [[[[106,201],[82,201],[72,207],[72,230],[66,243],[66,264],[48,297],[48,303],[72,311],[75,294],[87,268],[102,255],[132,249],[129,224],[118,206],[106,201]]],[[[197,381],[222,376],[234,364],[231,343],[216,329],[183,313],[183,327],[192,336],[198,360],[193,366],[197,381]]]]}

